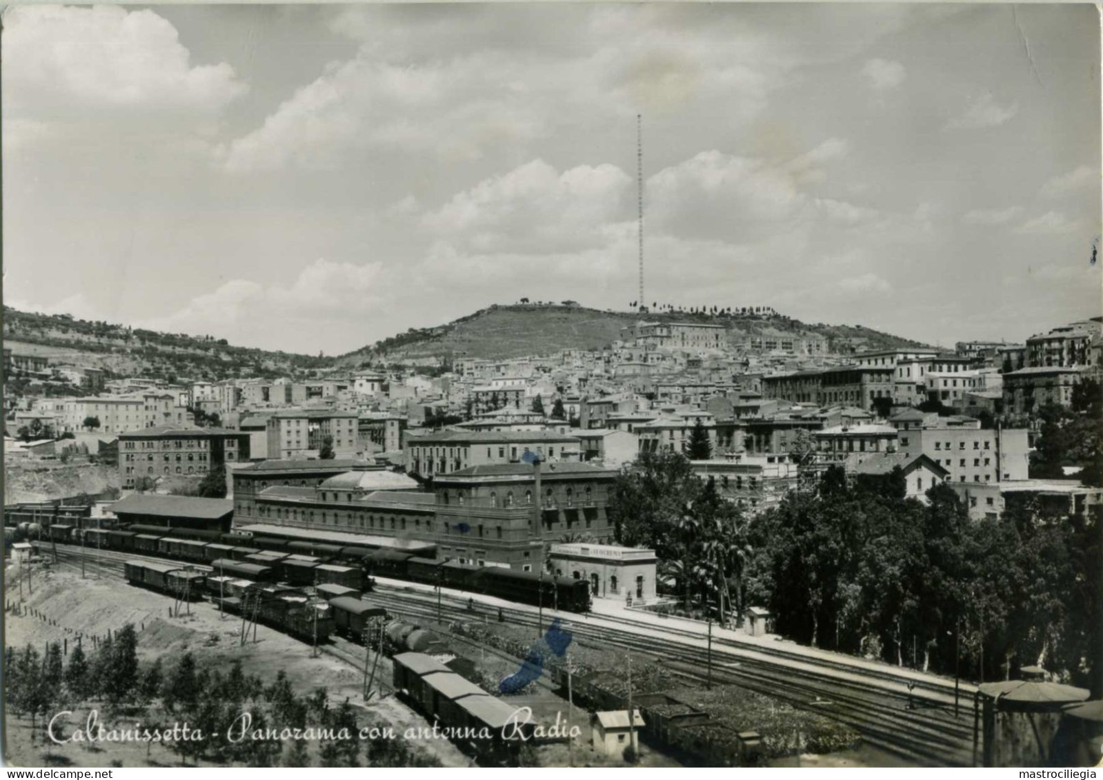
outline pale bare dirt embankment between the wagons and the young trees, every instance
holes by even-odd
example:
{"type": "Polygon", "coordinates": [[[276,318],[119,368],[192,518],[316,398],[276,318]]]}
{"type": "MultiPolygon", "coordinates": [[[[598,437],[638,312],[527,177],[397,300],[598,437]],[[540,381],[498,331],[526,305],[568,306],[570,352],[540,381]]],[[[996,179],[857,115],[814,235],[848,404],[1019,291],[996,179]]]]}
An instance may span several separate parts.
{"type": "MultiPolygon", "coordinates": [[[[21,591],[14,570],[6,573],[4,585],[6,600],[19,601],[21,591]]],[[[4,613],[4,640],[10,647],[32,644],[42,652],[46,642],[66,640],[67,649],[72,651],[77,635],[82,635],[84,649],[94,652],[94,635],[103,638],[108,629],[114,633],[129,622],[138,630],[138,656],[142,664],[160,658],[168,669],[185,652],[191,652],[201,666],[228,669],[231,661],[238,660],[246,674],[257,674],[266,684],[270,684],[277,672],[283,670],[297,694],[306,695],[321,687],[333,706],[347,698],[356,708],[362,725],[389,725],[399,735],[410,727],[429,728],[424,717],[394,695],[382,699],[373,697],[366,705],[363,704],[363,676],[358,670],[330,655],[311,658],[309,645],[287,634],[259,626],[257,641],[240,644],[240,619],[232,616],[223,618],[208,602],[192,603],[190,615],[181,609],[179,616],[170,617],[172,598],[135,588],[115,577],[97,578],[90,567],[88,577],[82,578],[79,567],[72,564],[51,566],[46,570],[35,568],[31,588],[24,581],[23,601],[18,615],[4,613]]],[[[74,716],[73,722],[82,723],[84,709],[81,709],[79,717],[74,716]]],[[[106,708],[100,710],[100,715],[108,716],[106,708]]],[[[133,717],[114,717],[105,728],[116,722],[121,724],[120,727],[128,723],[132,725],[133,720],[133,717]]],[[[41,767],[50,762],[54,766],[104,767],[113,761],[117,762],[115,766],[126,767],[181,766],[180,757],[164,746],[154,746],[148,751],[148,746],[140,742],[115,742],[103,747],[68,744],[52,746],[47,754],[41,741],[31,745],[28,719],[12,717],[8,725],[6,758],[15,766],[41,767]]],[[[447,739],[417,740],[414,747],[431,755],[446,767],[470,765],[470,759],[447,739]]],[[[201,761],[201,766],[206,765],[206,761],[201,761]]]]}

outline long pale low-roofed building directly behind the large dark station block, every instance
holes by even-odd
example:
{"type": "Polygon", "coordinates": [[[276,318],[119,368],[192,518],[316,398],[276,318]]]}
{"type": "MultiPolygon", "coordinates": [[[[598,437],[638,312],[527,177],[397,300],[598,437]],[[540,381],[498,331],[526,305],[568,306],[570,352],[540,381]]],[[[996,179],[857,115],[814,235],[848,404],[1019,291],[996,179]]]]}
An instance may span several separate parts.
{"type": "Polygon", "coordinates": [[[516,463],[526,452],[535,452],[540,460],[577,460],[579,440],[550,430],[442,430],[407,437],[406,450],[409,473],[438,479],[473,466],[516,463]]]}

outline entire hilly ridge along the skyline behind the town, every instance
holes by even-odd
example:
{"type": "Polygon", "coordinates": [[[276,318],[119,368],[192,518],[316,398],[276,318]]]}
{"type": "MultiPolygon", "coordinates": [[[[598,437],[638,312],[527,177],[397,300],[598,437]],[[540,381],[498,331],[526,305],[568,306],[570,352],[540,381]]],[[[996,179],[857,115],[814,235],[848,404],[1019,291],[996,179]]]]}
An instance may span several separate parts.
{"type": "Polygon", "coordinates": [[[927,346],[861,325],[805,324],[780,314],[709,314],[689,311],[636,313],[565,303],[491,306],[435,328],[414,328],[338,357],[234,346],[225,339],[129,328],[109,322],[3,308],[4,346],[55,362],[107,368],[118,374],[173,380],[238,376],[299,377],[315,370],[356,370],[377,362],[433,363],[456,357],[508,360],[561,350],[599,350],[635,322],[702,322],[736,334],[821,335],[829,346],[856,349],[927,346]]]}

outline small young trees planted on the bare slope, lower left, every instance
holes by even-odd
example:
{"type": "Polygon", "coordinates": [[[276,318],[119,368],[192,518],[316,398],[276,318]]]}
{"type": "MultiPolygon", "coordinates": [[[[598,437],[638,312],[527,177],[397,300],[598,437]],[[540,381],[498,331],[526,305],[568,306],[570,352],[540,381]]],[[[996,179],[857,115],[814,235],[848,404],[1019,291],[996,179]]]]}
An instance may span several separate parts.
{"type": "Polygon", "coordinates": [[[32,734],[38,730],[36,724],[47,720],[49,713],[93,706],[96,702],[106,704],[109,714],[125,712],[128,722],[141,722],[143,728],[163,729],[173,723],[188,723],[204,738],[167,744],[184,762],[207,759],[249,767],[313,763],[304,739],[231,739],[231,735],[240,734],[239,717],[248,713],[249,730],[324,728],[340,735],[344,729],[351,738],[317,742],[317,759],[322,767],[357,767],[362,755],[365,766],[431,766],[408,742],[386,738],[382,724],[373,730],[378,737],[360,739],[361,727],[347,699],[331,707],[324,688],[298,696],[282,671],[266,686],[259,676],[245,674],[238,661],[224,672],[217,667],[218,661],[201,664],[190,652],[165,670],[160,659],[140,664],[137,645],[135,627],[128,624],[100,642],[90,658],[77,644],[67,664],[56,642],[47,645],[44,656],[31,645],[22,650],[9,647],[4,654],[8,705],[14,714],[31,717],[32,734]]]}

